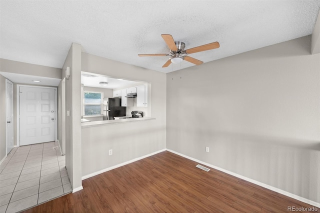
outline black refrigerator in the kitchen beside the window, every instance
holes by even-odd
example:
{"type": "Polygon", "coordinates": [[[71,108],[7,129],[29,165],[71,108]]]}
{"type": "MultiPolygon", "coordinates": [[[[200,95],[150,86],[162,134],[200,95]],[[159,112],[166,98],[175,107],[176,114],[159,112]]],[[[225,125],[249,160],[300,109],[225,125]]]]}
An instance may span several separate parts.
{"type": "Polygon", "coordinates": [[[113,120],[113,117],[125,115],[126,107],[121,106],[121,98],[107,98],[106,105],[103,105],[103,120],[113,120]]]}

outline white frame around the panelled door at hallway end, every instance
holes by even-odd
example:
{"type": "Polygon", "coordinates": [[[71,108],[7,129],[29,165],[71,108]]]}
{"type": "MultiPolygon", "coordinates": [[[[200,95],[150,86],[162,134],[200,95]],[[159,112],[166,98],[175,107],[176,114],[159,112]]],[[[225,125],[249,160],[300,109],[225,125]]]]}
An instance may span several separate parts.
{"type": "Polygon", "coordinates": [[[20,87],[36,87],[36,88],[50,88],[54,89],[54,140],[57,140],[57,88],[51,86],[37,86],[37,85],[23,85],[23,84],[16,84],[16,146],[20,146],[20,87]]]}

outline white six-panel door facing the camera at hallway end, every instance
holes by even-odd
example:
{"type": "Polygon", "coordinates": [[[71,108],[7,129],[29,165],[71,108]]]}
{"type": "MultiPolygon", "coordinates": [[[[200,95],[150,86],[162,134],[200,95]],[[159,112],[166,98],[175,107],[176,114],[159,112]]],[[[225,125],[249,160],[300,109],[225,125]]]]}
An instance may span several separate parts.
{"type": "Polygon", "coordinates": [[[55,140],[55,89],[20,86],[20,145],[55,140]]]}

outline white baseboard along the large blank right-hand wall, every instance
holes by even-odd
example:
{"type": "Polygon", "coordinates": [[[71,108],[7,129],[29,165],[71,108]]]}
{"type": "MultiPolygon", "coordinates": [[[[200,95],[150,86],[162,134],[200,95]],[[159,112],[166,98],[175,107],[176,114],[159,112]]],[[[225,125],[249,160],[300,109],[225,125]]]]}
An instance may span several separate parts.
{"type": "Polygon", "coordinates": [[[318,202],[315,202],[315,201],[306,199],[306,198],[301,197],[301,196],[298,196],[298,195],[296,195],[296,194],[292,194],[292,193],[290,193],[290,192],[284,191],[284,190],[279,189],[279,188],[276,188],[276,187],[274,187],[274,186],[267,185],[267,184],[265,184],[265,183],[263,183],[263,182],[256,181],[256,180],[251,179],[251,178],[248,178],[248,177],[246,177],[246,176],[242,176],[242,175],[240,175],[240,174],[234,173],[234,172],[229,171],[229,170],[226,170],[226,169],[224,169],[224,168],[220,168],[220,167],[217,167],[217,166],[215,166],[215,165],[212,165],[212,164],[203,162],[203,161],[201,161],[201,160],[198,160],[198,159],[195,159],[195,158],[193,158],[193,157],[190,157],[190,156],[181,154],[181,153],[176,152],[176,151],[173,151],[173,150],[171,150],[171,149],[166,149],[166,150],[167,150],[167,151],[170,151],[170,152],[172,152],[172,153],[174,153],[174,154],[180,155],[180,156],[182,156],[182,157],[188,158],[188,159],[190,159],[190,160],[193,160],[193,161],[195,161],[195,162],[198,162],[198,163],[207,165],[207,166],[209,166],[209,167],[211,167],[211,168],[214,168],[214,169],[216,169],[216,170],[222,171],[222,172],[224,172],[224,173],[230,174],[230,175],[232,175],[232,176],[238,177],[238,178],[240,178],[240,179],[243,179],[243,180],[246,180],[246,181],[248,181],[248,182],[254,183],[254,184],[256,184],[256,185],[262,186],[262,187],[264,187],[264,188],[270,189],[270,190],[272,190],[272,191],[278,192],[278,193],[283,194],[283,195],[285,195],[285,196],[291,197],[291,198],[293,198],[293,199],[297,199],[297,200],[299,200],[299,201],[301,201],[301,202],[305,202],[305,203],[310,204],[310,205],[313,205],[313,206],[315,206],[315,207],[320,207],[320,203],[318,203],[318,202]]]}

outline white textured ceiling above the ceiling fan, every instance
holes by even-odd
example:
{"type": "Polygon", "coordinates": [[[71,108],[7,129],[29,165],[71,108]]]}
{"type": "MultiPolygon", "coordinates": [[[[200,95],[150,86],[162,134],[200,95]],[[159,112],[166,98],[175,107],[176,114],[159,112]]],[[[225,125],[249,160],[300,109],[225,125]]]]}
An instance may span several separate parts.
{"type": "Polygon", "coordinates": [[[189,56],[204,62],[309,35],[320,0],[0,0],[0,57],[62,67],[72,42],[84,51],[162,72],[161,34],[186,49],[218,41],[189,56]]]}

